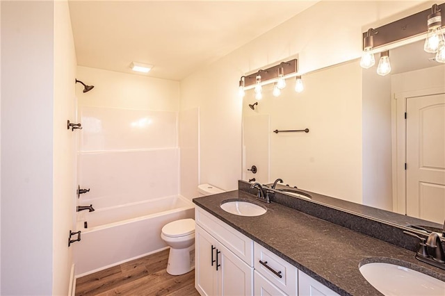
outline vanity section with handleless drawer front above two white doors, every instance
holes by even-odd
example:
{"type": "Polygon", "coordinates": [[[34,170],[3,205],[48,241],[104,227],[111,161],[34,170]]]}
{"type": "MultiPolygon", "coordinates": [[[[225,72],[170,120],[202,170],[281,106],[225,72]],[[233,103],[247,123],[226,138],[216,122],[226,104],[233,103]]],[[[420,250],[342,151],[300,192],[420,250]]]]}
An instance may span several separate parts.
{"type": "Polygon", "coordinates": [[[201,295],[253,295],[253,241],[200,208],[196,208],[195,220],[195,288],[198,292],[201,295]]]}

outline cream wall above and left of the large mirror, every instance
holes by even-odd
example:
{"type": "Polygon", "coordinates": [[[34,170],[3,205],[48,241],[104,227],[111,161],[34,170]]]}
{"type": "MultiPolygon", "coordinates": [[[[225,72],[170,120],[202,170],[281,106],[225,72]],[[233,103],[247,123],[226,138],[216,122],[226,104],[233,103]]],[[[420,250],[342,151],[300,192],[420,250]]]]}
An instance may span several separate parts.
{"type": "MultiPolygon", "coordinates": [[[[302,74],[358,58],[362,51],[362,32],[369,24],[387,23],[410,15],[412,12],[394,14],[418,4],[413,1],[322,1],[181,81],[181,110],[200,107],[201,183],[233,190],[242,176],[242,101],[237,97],[237,87],[243,74],[296,55],[302,74]]],[[[430,3],[423,6],[422,9],[426,9],[430,3]]],[[[362,124],[362,117],[355,120],[355,124],[362,124]]],[[[355,154],[361,153],[361,145],[356,149],[355,154]]],[[[361,167],[359,160],[350,175],[361,176],[361,167]]],[[[361,196],[362,191],[357,195],[361,196]]]]}

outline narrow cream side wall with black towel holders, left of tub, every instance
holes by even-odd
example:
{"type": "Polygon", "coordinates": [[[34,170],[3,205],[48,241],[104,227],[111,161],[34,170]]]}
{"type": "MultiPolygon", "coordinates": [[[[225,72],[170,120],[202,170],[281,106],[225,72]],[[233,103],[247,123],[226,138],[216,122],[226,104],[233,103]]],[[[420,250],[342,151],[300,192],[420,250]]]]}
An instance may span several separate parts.
{"type": "Polygon", "coordinates": [[[76,118],[76,53],[67,1],[54,2],[54,167],[53,167],[53,295],[67,295],[72,247],[67,236],[74,231],[76,200],[76,133],[67,120],[76,118]]]}

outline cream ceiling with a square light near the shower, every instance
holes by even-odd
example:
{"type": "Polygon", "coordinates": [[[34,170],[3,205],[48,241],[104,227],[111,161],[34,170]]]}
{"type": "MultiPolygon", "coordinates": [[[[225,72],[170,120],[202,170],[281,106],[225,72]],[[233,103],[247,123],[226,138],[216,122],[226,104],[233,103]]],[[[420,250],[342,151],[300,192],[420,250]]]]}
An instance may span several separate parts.
{"type": "Polygon", "coordinates": [[[316,2],[71,0],[77,65],[180,81],[316,2]]]}

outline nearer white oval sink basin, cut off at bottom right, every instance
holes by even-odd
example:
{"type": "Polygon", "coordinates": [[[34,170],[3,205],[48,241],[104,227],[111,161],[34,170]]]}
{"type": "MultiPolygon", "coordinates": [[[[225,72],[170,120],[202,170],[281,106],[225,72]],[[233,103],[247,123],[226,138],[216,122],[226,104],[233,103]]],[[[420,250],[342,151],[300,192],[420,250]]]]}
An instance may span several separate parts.
{"type": "Polygon", "coordinates": [[[445,295],[445,282],[391,263],[367,263],[360,272],[383,295],[445,295]]]}

